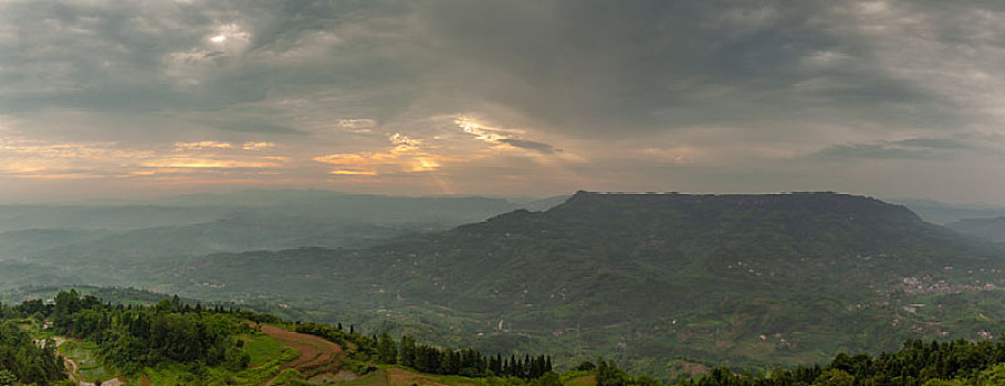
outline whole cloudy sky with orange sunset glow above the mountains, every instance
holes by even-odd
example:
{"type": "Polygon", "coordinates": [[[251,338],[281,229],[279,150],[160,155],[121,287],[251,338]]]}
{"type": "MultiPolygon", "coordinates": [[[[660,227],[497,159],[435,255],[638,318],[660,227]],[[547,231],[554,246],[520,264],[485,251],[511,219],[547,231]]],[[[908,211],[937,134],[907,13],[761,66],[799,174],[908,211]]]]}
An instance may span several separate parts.
{"type": "Polygon", "coordinates": [[[1005,204],[998,1],[0,0],[0,200],[1005,204]]]}

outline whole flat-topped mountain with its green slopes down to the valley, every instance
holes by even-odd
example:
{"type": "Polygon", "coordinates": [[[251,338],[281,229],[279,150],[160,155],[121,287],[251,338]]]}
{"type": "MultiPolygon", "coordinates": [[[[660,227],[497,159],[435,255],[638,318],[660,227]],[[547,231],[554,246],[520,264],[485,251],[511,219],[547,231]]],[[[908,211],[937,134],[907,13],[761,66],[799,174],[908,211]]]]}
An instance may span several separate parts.
{"type": "Polygon", "coordinates": [[[988,291],[1005,283],[997,256],[868,197],[580,192],[545,212],[368,249],[218,254],[154,280],[196,297],[295,302],[321,319],[369,312],[374,329],[486,351],[547,347],[658,373],[678,356],[793,364],[1001,331],[1005,299],[988,291]]]}

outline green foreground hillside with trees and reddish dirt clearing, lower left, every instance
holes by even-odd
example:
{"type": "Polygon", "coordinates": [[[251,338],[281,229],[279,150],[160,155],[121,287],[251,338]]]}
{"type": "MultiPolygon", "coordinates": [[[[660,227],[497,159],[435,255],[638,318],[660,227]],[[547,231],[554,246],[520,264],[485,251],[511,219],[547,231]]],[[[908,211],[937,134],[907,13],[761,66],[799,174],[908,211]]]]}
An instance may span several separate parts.
{"type": "Polygon", "coordinates": [[[52,385],[67,382],[67,376],[92,383],[127,378],[153,385],[297,385],[312,377],[336,377],[343,369],[354,378],[384,367],[520,385],[554,374],[551,357],[544,355],[503,360],[417,344],[410,336],[399,342],[352,326],[344,331],[341,325],[192,305],[178,297],[156,304],[112,304],[75,290],[61,291],[52,302],[0,304],[0,385],[52,385]],[[322,337],[352,347],[348,357],[322,337]],[[303,352],[311,350],[316,352],[303,352]],[[73,368],[65,368],[60,356],[73,368]]]}

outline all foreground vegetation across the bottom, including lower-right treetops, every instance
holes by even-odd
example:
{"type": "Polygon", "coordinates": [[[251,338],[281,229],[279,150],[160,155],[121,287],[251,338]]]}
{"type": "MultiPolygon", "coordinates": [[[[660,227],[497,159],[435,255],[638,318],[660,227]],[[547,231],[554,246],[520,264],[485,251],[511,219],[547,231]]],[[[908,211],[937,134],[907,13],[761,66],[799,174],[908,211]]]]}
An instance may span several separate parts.
{"type": "MultiPolygon", "coordinates": [[[[290,323],[273,315],[184,303],[111,304],[75,291],[53,302],[0,304],[0,385],[56,385],[118,377],[150,385],[471,385],[656,386],[616,361],[586,361],[564,373],[546,355],[485,355],[367,335],[354,326],[290,323]],[[283,331],[284,335],[262,332],[283,331]],[[46,329],[42,329],[46,326],[46,329]],[[295,332],[293,332],[295,331],[295,332]],[[291,337],[292,336],[292,337],[291,337]],[[315,336],[315,337],[312,337],[315,336]],[[324,340],[321,340],[321,339],[324,340]],[[64,341],[70,339],[69,341],[64,341]],[[56,342],[62,345],[56,347],[56,342]],[[317,341],[314,356],[289,344],[317,341]],[[328,342],[337,343],[337,345],[328,342]],[[346,347],[345,355],[342,347],[346,347]],[[60,355],[75,361],[65,368],[60,355]],[[344,372],[344,373],[343,373],[344,372]],[[346,374],[342,378],[336,376],[346,374]],[[121,375],[121,376],[119,376],[121,375]],[[324,376],[322,376],[324,375],[324,376]],[[140,380],[142,379],[142,380],[140,380]]],[[[1005,385],[1005,340],[908,341],[880,355],[838,354],[823,365],[750,372],[713,367],[683,386],[984,386],[1005,385]]]]}

